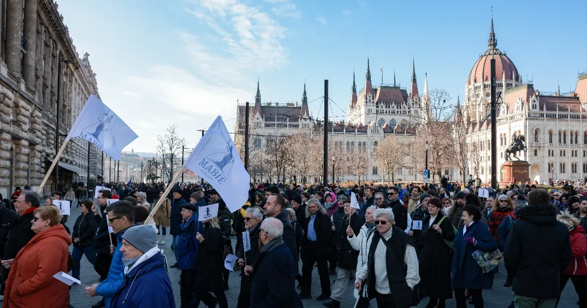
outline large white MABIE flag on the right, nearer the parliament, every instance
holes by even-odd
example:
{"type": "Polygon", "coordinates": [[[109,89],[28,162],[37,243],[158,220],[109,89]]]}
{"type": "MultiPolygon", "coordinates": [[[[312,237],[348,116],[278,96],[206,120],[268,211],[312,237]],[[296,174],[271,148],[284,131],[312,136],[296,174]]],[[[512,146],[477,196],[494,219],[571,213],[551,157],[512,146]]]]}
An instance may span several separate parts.
{"type": "Polygon", "coordinates": [[[191,151],[185,167],[204,178],[220,194],[231,212],[241,208],[248,199],[251,178],[237,148],[228,134],[222,117],[218,116],[204,137],[191,151]]]}

